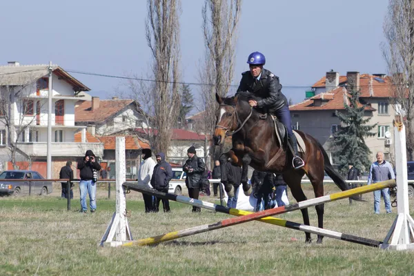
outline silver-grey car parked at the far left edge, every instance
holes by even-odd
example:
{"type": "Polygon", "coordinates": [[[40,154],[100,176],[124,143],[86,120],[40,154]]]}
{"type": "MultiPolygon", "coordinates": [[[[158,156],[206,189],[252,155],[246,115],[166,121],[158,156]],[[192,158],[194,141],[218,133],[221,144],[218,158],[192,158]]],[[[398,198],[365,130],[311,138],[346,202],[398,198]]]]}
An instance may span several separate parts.
{"type": "Polygon", "coordinates": [[[52,182],[30,181],[44,179],[34,170],[5,170],[0,174],[0,195],[48,195],[52,193],[52,182]],[[3,179],[21,179],[4,181],[3,179]]]}

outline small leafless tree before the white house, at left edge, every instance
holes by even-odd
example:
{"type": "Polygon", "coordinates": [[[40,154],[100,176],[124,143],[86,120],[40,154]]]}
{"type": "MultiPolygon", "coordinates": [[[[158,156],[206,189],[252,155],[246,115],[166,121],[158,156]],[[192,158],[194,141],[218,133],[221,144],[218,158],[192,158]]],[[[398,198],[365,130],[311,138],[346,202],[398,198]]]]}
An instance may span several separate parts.
{"type": "Polygon", "coordinates": [[[21,79],[17,74],[0,75],[0,129],[6,130],[1,136],[7,137],[3,141],[14,169],[17,169],[17,153],[30,161],[30,157],[19,149],[19,142],[35,139],[34,135],[37,135],[31,126],[40,119],[38,114],[42,105],[39,100],[30,99],[30,92],[36,89],[36,79],[27,74],[21,79]]]}

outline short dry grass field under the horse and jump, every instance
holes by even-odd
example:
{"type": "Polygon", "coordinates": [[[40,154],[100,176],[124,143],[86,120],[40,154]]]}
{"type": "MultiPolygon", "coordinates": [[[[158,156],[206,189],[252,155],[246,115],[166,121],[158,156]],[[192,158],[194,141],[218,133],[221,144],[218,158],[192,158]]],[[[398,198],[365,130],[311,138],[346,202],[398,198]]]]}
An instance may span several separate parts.
{"type": "MultiPolygon", "coordinates": [[[[311,186],[304,185],[309,198],[311,186]]],[[[326,185],[326,194],[338,192],[326,185]]],[[[97,246],[115,210],[106,190],[98,191],[97,213],[79,213],[79,190],[72,210],[60,189],[46,197],[0,198],[0,275],[413,275],[414,253],[385,251],[336,239],[305,244],[304,233],[252,221],[165,244],[134,248],[97,246]]],[[[291,202],[293,199],[289,197],[291,202]]],[[[208,197],[202,200],[215,201],[208,197]]],[[[325,206],[325,228],[384,239],[395,213],[373,214],[367,202],[348,199],[325,206]]],[[[411,210],[413,202],[410,201],[411,210]]],[[[216,202],[217,203],[217,202],[216,202]]],[[[215,223],[228,215],[202,210],[191,213],[185,204],[171,203],[172,213],[145,214],[139,193],[127,195],[128,218],[134,239],[215,223]]],[[[317,226],[315,208],[311,225],[317,226]]],[[[396,212],[393,208],[393,212],[396,212]]],[[[413,212],[411,215],[414,216],[413,212]]],[[[302,223],[300,212],[283,219],[302,223]]],[[[316,240],[316,236],[313,235],[316,240]]]]}

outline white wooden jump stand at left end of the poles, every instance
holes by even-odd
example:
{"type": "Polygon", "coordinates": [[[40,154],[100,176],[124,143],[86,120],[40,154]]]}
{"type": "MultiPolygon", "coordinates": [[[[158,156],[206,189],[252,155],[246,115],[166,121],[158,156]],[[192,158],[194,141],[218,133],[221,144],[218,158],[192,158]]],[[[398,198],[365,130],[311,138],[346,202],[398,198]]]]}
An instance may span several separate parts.
{"type": "Polygon", "coordinates": [[[120,246],[132,241],[132,235],[126,217],[126,199],[122,184],[126,181],[125,137],[117,137],[115,159],[117,162],[116,194],[117,206],[114,215],[101,239],[100,246],[120,246]],[[113,240],[115,237],[115,241],[113,240]]]}

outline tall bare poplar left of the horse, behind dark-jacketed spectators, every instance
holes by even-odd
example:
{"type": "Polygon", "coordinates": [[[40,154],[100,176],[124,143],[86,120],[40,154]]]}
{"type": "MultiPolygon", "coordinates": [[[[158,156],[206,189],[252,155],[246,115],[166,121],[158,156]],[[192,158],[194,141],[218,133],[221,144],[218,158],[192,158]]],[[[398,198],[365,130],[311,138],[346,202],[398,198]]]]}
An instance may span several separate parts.
{"type": "Polygon", "coordinates": [[[150,89],[157,129],[155,149],[168,152],[171,129],[177,121],[179,88],[179,0],[148,0],[146,39],[150,47],[155,83],[150,89]]]}

